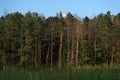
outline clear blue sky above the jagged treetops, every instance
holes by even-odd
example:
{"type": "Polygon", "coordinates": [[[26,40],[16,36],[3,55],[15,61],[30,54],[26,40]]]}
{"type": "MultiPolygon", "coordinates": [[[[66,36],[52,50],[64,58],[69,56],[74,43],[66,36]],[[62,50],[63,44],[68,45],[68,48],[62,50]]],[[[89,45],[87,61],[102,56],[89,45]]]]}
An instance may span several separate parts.
{"type": "Polygon", "coordinates": [[[120,0],[0,0],[0,16],[5,9],[7,13],[38,12],[45,17],[55,16],[60,11],[71,12],[80,17],[93,17],[108,10],[114,15],[119,13],[120,0]]]}

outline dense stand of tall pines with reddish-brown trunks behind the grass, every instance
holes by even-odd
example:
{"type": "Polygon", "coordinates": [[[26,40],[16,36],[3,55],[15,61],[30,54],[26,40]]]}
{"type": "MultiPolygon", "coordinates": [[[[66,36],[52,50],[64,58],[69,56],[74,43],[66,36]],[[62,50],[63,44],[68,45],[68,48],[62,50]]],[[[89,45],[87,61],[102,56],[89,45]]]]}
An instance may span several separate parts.
{"type": "Polygon", "coordinates": [[[37,12],[0,17],[0,69],[120,64],[120,13],[93,18],[70,12],[45,18],[37,12]]]}

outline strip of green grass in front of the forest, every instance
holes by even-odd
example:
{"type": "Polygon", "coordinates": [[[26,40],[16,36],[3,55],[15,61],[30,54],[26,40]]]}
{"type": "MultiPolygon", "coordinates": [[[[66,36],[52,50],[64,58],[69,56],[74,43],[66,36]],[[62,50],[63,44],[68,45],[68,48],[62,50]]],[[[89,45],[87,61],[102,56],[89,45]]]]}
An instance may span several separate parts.
{"type": "Polygon", "coordinates": [[[118,67],[80,67],[52,72],[49,70],[5,70],[0,80],[120,80],[118,67]]]}

